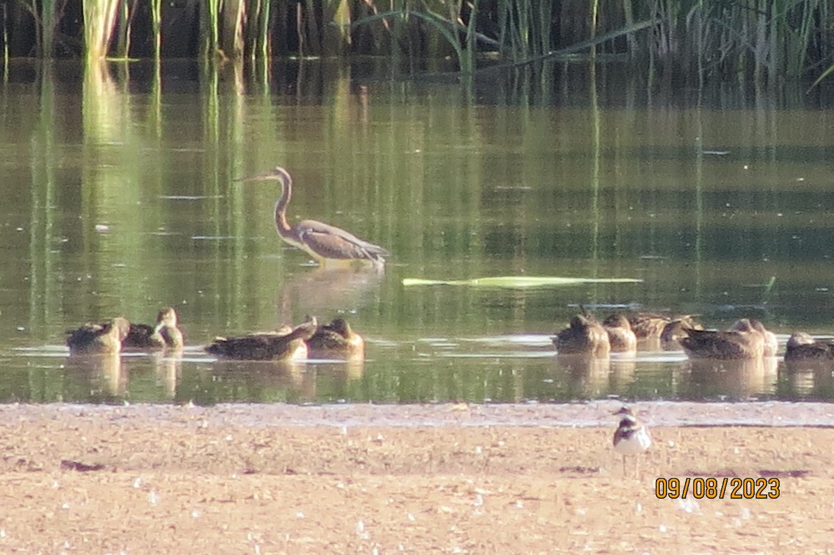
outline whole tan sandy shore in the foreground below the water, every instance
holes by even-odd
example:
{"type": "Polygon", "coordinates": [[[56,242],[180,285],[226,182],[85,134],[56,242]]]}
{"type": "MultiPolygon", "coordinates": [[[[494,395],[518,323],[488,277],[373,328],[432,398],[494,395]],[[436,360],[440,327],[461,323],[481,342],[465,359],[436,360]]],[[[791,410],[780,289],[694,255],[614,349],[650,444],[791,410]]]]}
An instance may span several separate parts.
{"type": "Polygon", "coordinates": [[[624,474],[618,406],[3,406],[0,552],[830,552],[834,407],[636,403],[624,474]]]}

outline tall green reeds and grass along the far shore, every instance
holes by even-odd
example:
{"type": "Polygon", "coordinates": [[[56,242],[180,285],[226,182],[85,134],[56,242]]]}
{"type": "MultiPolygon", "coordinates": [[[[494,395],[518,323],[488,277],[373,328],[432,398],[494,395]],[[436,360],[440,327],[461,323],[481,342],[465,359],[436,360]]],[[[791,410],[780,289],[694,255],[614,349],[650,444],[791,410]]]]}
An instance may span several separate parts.
{"type": "Polygon", "coordinates": [[[472,72],[485,55],[525,63],[582,43],[591,57],[624,55],[652,72],[700,82],[776,82],[834,67],[834,0],[193,0],[183,6],[6,2],[3,54],[162,57],[166,47],[168,55],[221,60],[359,54],[388,56],[412,69],[452,57],[461,72],[472,72]]]}

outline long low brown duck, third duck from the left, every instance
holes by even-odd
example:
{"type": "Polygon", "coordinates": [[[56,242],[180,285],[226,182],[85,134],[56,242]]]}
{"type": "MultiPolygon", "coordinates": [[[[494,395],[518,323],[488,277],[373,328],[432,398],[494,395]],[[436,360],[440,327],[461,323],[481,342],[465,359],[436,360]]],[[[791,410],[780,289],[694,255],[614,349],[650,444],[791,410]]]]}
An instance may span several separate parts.
{"type": "Polygon", "coordinates": [[[309,350],[307,343],[318,328],[315,318],[307,318],[295,328],[282,327],[274,332],[248,333],[231,338],[215,338],[205,347],[217,358],[234,360],[304,360],[309,350]]]}

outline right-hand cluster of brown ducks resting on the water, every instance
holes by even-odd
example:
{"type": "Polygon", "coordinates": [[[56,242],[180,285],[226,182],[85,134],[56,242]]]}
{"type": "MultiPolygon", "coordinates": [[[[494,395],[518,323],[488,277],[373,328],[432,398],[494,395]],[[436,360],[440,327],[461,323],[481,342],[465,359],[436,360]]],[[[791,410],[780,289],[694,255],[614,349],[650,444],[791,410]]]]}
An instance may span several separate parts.
{"type": "MultiPolygon", "coordinates": [[[[741,318],[721,331],[705,330],[691,315],[611,314],[600,323],[588,313],[577,314],[553,339],[560,354],[604,358],[609,353],[630,353],[641,344],[659,344],[667,351],[680,350],[689,358],[751,360],[774,357],[779,348],[776,334],[754,318],[741,318]]],[[[834,342],[797,332],[788,339],[785,360],[834,360],[834,342]]]]}

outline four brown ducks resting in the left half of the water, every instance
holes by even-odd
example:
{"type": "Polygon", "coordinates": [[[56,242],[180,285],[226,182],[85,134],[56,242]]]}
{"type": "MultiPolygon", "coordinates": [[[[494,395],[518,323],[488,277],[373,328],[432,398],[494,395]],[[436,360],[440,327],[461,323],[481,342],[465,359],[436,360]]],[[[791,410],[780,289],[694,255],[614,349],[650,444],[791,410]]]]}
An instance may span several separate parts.
{"type": "MultiPolygon", "coordinates": [[[[68,330],[70,354],[116,354],[127,350],[182,349],[183,333],[177,327],[177,313],[166,307],[156,324],[130,323],[113,318],[107,323],[86,323],[68,330]]],[[[295,328],[283,326],[274,332],[248,333],[215,338],[204,347],[217,358],[231,360],[297,361],[305,358],[364,358],[364,339],[354,333],[344,318],[320,324],[306,318],[295,328]]]]}

